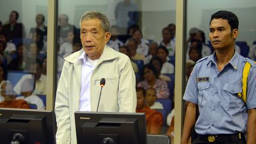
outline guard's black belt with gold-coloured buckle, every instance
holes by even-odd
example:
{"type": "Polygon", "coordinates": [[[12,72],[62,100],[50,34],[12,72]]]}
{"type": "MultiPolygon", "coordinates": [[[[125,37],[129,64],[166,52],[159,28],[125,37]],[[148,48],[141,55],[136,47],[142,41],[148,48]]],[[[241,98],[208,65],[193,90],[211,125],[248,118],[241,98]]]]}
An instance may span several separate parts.
{"type": "Polygon", "coordinates": [[[244,137],[243,133],[236,133],[232,135],[198,135],[200,140],[204,142],[229,142],[232,140],[239,140],[244,137]]]}

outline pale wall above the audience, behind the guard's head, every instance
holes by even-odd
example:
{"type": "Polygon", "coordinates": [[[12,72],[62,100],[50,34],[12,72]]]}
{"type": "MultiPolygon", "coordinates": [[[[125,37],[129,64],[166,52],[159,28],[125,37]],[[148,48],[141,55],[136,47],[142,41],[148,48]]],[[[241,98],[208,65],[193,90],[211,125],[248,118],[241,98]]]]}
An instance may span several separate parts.
{"type": "Polygon", "coordinates": [[[251,45],[256,40],[255,0],[190,0],[187,8],[187,30],[191,27],[200,28],[209,40],[210,16],[219,10],[232,11],[238,16],[240,34],[237,41],[244,40],[251,45]]]}

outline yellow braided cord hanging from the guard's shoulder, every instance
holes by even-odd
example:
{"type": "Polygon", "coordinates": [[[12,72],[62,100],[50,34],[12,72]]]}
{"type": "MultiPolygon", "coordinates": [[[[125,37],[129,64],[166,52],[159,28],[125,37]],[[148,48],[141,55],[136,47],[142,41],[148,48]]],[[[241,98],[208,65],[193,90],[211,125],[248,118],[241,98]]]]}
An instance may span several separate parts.
{"type": "Polygon", "coordinates": [[[247,78],[249,75],[249,69],[251,67],[251,63],[246,62],[242,75],[242,93],[238,93],[238,97],[242,97],[244,103],[247,103],[247,78]]]}

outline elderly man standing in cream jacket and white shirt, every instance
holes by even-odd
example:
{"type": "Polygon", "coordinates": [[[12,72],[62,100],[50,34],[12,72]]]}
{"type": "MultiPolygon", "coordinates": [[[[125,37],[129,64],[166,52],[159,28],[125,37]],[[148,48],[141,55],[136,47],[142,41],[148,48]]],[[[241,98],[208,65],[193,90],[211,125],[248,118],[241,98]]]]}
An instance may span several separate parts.
{"type": "Polygon", "coordinates": [[[76,143],[75,111],[135,112],[135,73],[129,57],[105,44],[108,18],[97,11],[80,20],[83,49],[65,57],[56,93],[57,143],[76,143]],[[105,87],[100,95],[100,81],[105,87]]]}

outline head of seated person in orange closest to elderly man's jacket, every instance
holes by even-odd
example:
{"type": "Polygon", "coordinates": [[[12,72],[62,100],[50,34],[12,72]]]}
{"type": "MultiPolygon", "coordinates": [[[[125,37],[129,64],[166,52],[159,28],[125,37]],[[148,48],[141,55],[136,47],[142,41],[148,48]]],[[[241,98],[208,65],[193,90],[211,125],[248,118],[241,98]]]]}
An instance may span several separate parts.
{"type": "Polygon", "coordinates": [[[136,88],[137,94],[137,110],[143,109],[146,104],[146,91],[144,88],[137,87],[136,88]]]}

